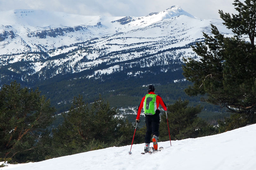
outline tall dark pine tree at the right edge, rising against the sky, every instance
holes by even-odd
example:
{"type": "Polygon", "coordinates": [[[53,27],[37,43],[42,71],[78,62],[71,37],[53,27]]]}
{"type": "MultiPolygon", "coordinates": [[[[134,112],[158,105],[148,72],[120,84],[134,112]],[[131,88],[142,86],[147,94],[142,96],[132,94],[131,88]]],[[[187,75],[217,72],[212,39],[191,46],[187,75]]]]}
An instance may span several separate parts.
{"type": "Polygon", "coordinates": [[[192,47],[200,60],[184,59],[186,65],[183,66],[183,75],[194,83],[185,89],[187,94],[206,94],[207,102],[240,115],[226,119],[229,130],[256,122],[256,0],[244,3],[235,0],[233,4],[238,14],[231,17],[221,10],[219,14],[235,36],[224,37],[211,25],[213,37],[203,33],[205,42],[192,47]]]}

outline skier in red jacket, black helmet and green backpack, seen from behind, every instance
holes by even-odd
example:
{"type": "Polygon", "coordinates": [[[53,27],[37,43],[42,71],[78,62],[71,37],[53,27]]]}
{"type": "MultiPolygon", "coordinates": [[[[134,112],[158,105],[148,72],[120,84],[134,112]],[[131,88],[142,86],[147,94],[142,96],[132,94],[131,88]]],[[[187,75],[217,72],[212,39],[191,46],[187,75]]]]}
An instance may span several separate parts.
{"type": "Polygon", "coordinates": [[[136,122],[140,122],[141,109],[144,108],[145,122],[146,122],[146,135],[145,135],[145,148],[144,152],[149,152],[149,144],[151,141],[151,134],[153,133],[153,147],[157,150],[158,137],[159,137],[159,124],[160,124],[160,110],[158,110],[159,104],[162,105],[164,110],[168,110],[166,104],[163,102],[162,98],[155,93],[154,85],[148,86],[148,94],[144,96],[140,102],[137,111],[136,122]]]}

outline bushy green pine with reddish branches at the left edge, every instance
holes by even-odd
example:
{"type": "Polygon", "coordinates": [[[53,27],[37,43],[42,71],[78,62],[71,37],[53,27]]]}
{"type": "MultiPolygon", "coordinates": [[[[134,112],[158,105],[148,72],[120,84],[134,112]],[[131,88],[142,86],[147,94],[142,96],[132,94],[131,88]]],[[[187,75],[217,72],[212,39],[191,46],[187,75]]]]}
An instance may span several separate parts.
{"type": "Polygon", "coordinates": [[[24,161],[47,135],[54,112],[39,89],[21,88],[16,82],[4,85],[0,91],[0,157],[24,161]]]}

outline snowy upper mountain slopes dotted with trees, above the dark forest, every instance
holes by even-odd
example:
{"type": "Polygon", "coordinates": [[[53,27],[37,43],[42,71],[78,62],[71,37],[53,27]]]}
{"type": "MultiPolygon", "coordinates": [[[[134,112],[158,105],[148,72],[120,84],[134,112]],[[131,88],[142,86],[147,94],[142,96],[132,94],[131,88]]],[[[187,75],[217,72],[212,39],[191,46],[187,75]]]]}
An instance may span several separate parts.
{"type": "Polygon", "coordinates": [[[34,74],[47,79],[93,69],[86,75],[91,77],[124,70],[124,64],[169,65],[193,56],[190,45],[202,40],[203,31],[210,33],[210,24],[226,35],[231,33],[222,20],[200,20],[179,6],[143,17],[42,10],[2,11],[0,15],[0,68],[17,73],[22,81],[30,81],[34,74]],[[17,67],[24,61],[25,65],[17,67]]]}

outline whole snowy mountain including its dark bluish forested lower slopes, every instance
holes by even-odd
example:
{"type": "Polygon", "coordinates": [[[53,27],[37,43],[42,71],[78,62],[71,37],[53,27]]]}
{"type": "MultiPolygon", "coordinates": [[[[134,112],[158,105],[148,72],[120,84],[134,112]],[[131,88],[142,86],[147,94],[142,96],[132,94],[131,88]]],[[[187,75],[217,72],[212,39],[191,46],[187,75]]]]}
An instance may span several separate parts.
{"type": "Polygon", "coordinates": [[[210,24],[232,36],[222,20],[198,19],[179,6],[142,17],[21,9],[0,15],[0,88],[14,80],[40,87],[63,107],[81,93],[93,102],[99,93],[119,95],[126,85],[184,79],[183,57],[197,57],[191,45],[204,40],[202,32],[210,34],[210,24]]]}

